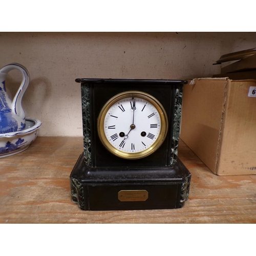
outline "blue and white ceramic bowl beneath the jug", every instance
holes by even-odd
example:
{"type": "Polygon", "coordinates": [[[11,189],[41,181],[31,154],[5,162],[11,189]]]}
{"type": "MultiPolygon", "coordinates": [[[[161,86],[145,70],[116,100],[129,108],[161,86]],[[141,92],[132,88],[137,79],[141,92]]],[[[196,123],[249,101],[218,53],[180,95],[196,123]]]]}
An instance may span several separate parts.
{"type": "Polygon", "coordinates": [[[42,122],[26,118],[25,129],[19,132],[0,134],[0,158],[26,150],[35,140],[42,122]]]}

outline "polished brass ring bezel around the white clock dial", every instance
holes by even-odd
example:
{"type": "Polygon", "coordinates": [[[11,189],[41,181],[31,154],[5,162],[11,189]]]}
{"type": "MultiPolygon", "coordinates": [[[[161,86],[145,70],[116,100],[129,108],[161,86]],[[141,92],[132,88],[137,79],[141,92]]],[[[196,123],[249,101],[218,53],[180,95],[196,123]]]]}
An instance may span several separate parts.
{"type": "Polygon", "coordinates": [[[166,138],[167,132],[168,132],[168,118],[167,118],[167,114],[166,114],[162,104],[152,95],[144,93],[144,92],[140,92],[140,91],[126,91],[126,92],[122,92],[122,93],[115,95],[114,97],[112,97],[110,100],[108,100],[104,104],[103,108],[101,109],[101,111],[99,113],[99,117],[98,117],[98,121],[97,121],[97,130],[98,130],[98,136],[99,136],[101,143],[109,152],[111,152],[112,154],[114,154],[118,157],[124,158],[124,159],[140,159],[140,158],[144,158],[146,156],[151,155],[162,145],[164,139],[166,138]],[[158,138],[151,145],[151,147],[148,147],[148,148],[146,148],[146,150],[141,151],[141,152],[125,153],[125,152],[119,151],[117,148],[115,148],[109,142],[109,140],[105,136],[105,132],[104,132],[105,115],[108,113],[110,107],[113,104],[115,104],[116,102],[118,102],[121,99],[126,98],[126,97],[142,98],[142,99],[150,102],[151,104],[153,104],[155,106],[155,108],[157,109],[157,111],[160,115],[161,130],[160,130],[158,138]]]}

